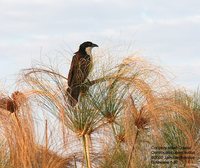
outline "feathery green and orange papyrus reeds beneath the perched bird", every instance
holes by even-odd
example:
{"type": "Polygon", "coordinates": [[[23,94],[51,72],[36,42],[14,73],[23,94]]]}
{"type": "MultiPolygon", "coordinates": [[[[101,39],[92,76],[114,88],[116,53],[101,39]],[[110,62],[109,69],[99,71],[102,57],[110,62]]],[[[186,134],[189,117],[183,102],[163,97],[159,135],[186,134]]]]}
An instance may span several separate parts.
{"type": "Polygon", "coordinates": [[[96,65],[75,107],[56,67],[22,71],[17,110],[0,108],[0,168],[197,166],[199,92],[174,89],[138,57],[105,67],[96,65]]]}

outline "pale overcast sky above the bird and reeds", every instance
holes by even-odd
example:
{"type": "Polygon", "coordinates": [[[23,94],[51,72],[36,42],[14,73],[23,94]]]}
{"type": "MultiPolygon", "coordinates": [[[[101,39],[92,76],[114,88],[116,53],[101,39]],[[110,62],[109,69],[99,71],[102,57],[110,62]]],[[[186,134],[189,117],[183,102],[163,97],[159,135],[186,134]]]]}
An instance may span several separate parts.
{"type": "Polygon", "coordinates": [[[0,23],[0,87],[33,60],[70,60],[86,40],[139,52],[179,86],[200,84],[199,0],[0,0],[0,23]]]}

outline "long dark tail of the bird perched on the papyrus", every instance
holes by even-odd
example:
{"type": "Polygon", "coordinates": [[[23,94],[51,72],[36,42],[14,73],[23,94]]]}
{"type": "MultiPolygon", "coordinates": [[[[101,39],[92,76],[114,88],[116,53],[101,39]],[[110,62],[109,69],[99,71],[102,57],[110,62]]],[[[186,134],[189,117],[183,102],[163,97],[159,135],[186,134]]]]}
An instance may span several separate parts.
{"type": "Polygon", "coordinates": [[[78,97],[80,95],[80,86],[67,88],[69,104],[74,107],[78,103],[78,97]]]}

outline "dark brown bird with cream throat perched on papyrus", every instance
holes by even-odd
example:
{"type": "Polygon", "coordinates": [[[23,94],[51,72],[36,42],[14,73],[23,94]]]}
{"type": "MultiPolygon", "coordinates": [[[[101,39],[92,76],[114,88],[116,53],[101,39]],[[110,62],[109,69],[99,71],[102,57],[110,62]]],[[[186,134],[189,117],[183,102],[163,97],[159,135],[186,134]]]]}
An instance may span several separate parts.
{"type": "Polygon", "coordinates": [[[68,89],[69,103],[71,106],[75,106],[78,102],[79,95],[81,93],[81,85],[87,79],[92,66],[92,48],[98,47],[90,41],[86,41],[79,46],[79,50],[75,52],[70,70],[68,73],[68,89]]]}

